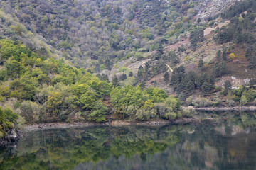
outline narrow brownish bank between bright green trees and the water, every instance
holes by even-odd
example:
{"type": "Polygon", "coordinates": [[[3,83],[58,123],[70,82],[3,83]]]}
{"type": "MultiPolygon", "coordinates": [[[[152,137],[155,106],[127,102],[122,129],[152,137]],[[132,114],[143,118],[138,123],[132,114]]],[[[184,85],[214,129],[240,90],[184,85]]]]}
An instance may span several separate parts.
{"type": "Polygon", "coordinates": [[[32,125],[26,125],[21,132],[31,132],[33,130],[48,130],[48,129],[60,129],[60,128],[84,128],[97,125],[106,126],[126,126],[126,125],[182,125],[187,123],[193,123],[196,118],[179,118],[176,120],[149,120],[145,122],[129,122],[124,120],[112,120],[105,123],[90,123],[90,122],[78,122],[78,123],[38,123],[32,125]]]}

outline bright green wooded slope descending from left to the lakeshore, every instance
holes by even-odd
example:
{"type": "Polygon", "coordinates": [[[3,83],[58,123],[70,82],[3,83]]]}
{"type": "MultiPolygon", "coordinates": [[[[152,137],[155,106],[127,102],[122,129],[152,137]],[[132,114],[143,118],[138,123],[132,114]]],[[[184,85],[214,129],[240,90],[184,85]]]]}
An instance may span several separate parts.
{"type": "Polygon", "coordinates": [[[178,98],[164,90],[115,87],[64,60],[37,55],[18,41],[1,40],[0,53],[1,136],[22,123],[182,116],[178,98]]]}

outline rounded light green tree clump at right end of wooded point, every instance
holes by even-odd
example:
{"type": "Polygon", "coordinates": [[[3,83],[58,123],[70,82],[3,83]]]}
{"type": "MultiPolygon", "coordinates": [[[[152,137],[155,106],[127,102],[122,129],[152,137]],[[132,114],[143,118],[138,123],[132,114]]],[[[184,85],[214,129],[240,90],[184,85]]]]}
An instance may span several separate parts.
{"type": "Polygon", "coordinates": [[[136,120],[149,120],[155,118],[156,115],[162,118],[161,115],[166,111],[178,111],[180,108],[177,98],[167,98],[165,91],[152,87],[149,87],[146,91],[142,91],[139,86],[117,87],[112,90],[110,96],[116,114],[127,113],[129,117],[136,120]],[[157,103],[164,101],[164,106],[161,108],[157,103]]]}

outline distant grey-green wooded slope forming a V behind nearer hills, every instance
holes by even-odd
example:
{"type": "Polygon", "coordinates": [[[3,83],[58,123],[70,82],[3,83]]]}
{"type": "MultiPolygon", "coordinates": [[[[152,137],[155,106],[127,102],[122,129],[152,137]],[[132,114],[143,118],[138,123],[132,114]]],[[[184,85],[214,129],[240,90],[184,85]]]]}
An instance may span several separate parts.
{"type": "Polygon", "coordinates": [[[92,72],[170,44],[173,35],[191,28],[196,14],[188,0],[26,0],[1,1],[0,7],[2,37],[21,40],[31,50],[40,50],[31,39],[46,42],[76,66],[93,67],[92,72]]]}

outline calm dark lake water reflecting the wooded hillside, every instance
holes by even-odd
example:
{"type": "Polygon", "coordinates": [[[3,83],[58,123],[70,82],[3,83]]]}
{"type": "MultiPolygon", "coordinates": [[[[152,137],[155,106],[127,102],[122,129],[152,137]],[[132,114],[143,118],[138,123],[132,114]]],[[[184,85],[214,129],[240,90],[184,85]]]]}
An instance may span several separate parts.
{"type": "Polygon", "coordinates": [[[0,148],[0,169],[256,169],[256,128],[244,118],[38,130],[0,148]]]}

